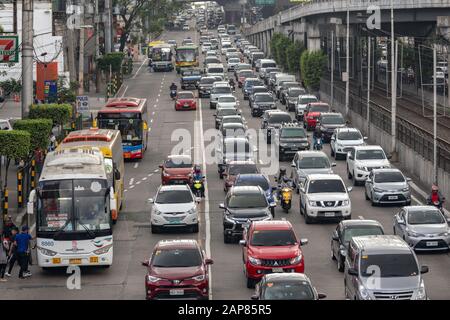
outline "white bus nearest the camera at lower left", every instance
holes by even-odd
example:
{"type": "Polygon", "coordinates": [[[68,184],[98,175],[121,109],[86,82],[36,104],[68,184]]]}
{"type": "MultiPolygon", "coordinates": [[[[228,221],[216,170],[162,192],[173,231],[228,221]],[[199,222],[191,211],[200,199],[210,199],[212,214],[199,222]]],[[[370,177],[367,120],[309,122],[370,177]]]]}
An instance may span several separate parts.
{"type": "Polygon", "coordinates": [[[50,152],[27,204],[27,213],[36,213],[38,265],[111,266],[116,210],[98,148],[50,152]]]}

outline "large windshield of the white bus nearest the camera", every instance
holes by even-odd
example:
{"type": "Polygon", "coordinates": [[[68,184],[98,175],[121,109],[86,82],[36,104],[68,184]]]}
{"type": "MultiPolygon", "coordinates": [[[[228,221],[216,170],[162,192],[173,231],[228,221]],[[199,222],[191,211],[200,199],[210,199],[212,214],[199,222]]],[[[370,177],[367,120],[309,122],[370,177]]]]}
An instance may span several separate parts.
{"type": "Polygon", "coordinates": [[[106,180],[41,182],[37,212],[39,232],[111,229],[106,180]]]}

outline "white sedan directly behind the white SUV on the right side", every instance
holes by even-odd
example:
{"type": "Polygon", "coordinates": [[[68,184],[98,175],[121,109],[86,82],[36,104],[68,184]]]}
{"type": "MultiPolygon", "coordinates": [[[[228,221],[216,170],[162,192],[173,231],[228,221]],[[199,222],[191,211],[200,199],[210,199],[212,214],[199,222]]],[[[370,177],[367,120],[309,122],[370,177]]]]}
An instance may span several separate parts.
{"type": "Polygon", "coordinates": [[[367,137],[363,137],[356,128],[337,128],[330,139],[330,153],[336,160],[346,158],[351,147],[362,146],[367,137]]]}

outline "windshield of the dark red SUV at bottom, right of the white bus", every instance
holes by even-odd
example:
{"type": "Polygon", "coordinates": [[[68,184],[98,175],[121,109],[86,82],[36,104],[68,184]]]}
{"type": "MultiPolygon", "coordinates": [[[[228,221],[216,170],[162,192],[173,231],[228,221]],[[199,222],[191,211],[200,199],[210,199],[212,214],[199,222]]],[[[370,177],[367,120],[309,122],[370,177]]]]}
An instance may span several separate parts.
{"type": "Polygon", "coordinates": [[[163,249],[153,254],[153,267],[157,268],[187,268],[200,266],[202,257],[198,249],[163,249]]]}

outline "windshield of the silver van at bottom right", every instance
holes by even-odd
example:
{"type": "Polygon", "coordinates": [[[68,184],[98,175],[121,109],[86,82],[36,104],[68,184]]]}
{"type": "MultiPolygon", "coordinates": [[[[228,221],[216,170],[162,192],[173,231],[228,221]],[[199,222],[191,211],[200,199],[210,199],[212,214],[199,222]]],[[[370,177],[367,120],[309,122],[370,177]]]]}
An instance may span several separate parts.
{"type": "Polygon", "coordinates": [[[411,253],[362,255],[360,270],[363,277],[390,278],[419,275],[416,259],[411,253]],[[376,270],[374,266],[377,266],[376,270]],[[378,274],[375,275],[375,272],[378,274]]]}

